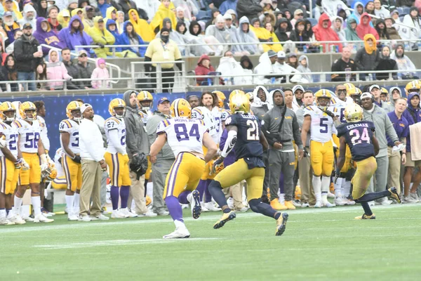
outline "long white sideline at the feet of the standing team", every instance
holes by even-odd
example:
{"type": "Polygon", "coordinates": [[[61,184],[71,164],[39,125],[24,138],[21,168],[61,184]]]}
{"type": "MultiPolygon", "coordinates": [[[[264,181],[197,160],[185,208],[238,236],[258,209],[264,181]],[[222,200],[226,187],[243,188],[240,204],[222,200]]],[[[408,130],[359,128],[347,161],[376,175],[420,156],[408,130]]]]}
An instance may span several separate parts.
{"type": "MultiPolygon", "coordinates": [[[[411,207],[412,208],[416,208],[418,207],[417,210],[412,210],[412,211],[421,211],[421,204],[392,204],[389,206],[375,206],[373,207],[373,212],[375,213],[376,210],[380,210],[380,209],[392,209],[392,213],[394,212],[393,210],[396,211],[401,211],[399,209],[403,208],[403,207],[411,207]]],[[[288,221],[288,223],[293,222],[293,216],[295,215],[302,215],[302,214],[325,214],[325,213],[329,213],[329,214],[335,214],[335,213],[352,213],[352,218],[354,218],[354,216],[360,215],[362,214],[363,209],[361,208],[361,206],[359,204],[355,205],[355,206],[349,206],[349,207],[338,207],[338,208],[321,208],[321,209],[314,209],[314,208],[305,208],[305,209],[297,209],[294,211],[288,211],[288,213],[290,214],[290,220],[288,221]]],[[[199,221],[215,221],[217,220],[220,215],[222,213],[215,212],[214,216],[202,216],[201,218],[199,218],[199,221]]],[[[255,214],[253,212],[248,211],[247,213],[243,214],[243,213],[237,213],[238,218],[253,218],[255,216],[262,216],[261,214],[255,214]]],[[[393,218],[389,218],[389,219],[393,219],[393,218]]],[[[401,219],[401,218],[399,218],[401,219]]],[[[420,219],[420,218],[412,218],[412,219],[420,219]]],[[[192,221],[196,221],[191,217],[187,217],[185,218],[185,221],[190,223],[192,221]]],[[[335,221],[335,220],[326,220],[326,221],[335,221]]],[[[341,221],[341,220],[338,220],[341,221]]],[[[321,221],[320,221],[321,222],[321,221]]],[[[48,225],[41,225],[41,226],[34,226],[34,227],[30,227],[27,228],[25,226],[12,226],[12,227],[8,227],[8,226],[2,226],[0,228],[0,234],[1,233],[24,233],[24,232],[34,232],[34,231],[49,231],[49,230],[67,230],[67,229],[80,229],[80,228],[91,228],[91,227],[108,227],[108,226],[122,226],[122,225],[132,225],[132,224],[149,224],[149,223],[173,223],[173,220],[171,219],[170,216],[167,216],[166,218],[135,218],[133,220],[130,221],[124,221],[123,219],[121,220],[112,220],[112,221],[102,221],[102,222],[78,222],[78,223],[69,223],[69,224],[61,224],[61,225],[54,225],[54,223],[48,223],[48,225]]]]}

